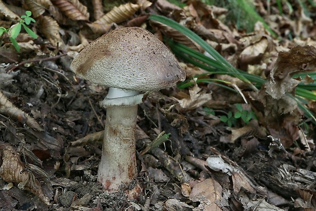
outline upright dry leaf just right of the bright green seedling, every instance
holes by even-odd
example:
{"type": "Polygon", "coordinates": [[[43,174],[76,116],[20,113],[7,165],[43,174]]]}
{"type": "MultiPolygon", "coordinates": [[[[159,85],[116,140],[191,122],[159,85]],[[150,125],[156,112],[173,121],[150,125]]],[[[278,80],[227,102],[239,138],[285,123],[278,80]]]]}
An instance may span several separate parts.
{"type": "Polygon", "coordinates": [[[59,34],[59,25],[54,18],[49,16],[40,16],[39,24],[41,32],[52,45],[64,46],[63,40],[59,34]]]}

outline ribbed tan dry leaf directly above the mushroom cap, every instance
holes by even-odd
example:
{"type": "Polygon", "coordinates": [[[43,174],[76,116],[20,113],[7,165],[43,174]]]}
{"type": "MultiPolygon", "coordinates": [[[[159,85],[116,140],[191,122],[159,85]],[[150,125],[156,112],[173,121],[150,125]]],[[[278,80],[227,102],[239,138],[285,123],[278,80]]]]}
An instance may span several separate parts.
{"type": "Polygon", "coordinates": [[[140,8],[139,5],[127,3],[114,7],[110,12],[103,15],[100,19],[87,24],[94,33],[106,33],[112,24],[118,24],[135,14],[140,8]]]}

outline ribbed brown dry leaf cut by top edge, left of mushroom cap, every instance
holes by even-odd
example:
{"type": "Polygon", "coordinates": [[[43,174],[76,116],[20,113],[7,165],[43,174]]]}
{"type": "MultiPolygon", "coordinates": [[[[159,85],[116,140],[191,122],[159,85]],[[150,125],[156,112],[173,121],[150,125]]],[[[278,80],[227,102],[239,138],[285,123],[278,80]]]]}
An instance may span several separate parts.
{"type": "Polygon", "coordinates": [[[79,0],[51,0],[51,2],[72,20],[89,20],[87,7],[79,0]]]}

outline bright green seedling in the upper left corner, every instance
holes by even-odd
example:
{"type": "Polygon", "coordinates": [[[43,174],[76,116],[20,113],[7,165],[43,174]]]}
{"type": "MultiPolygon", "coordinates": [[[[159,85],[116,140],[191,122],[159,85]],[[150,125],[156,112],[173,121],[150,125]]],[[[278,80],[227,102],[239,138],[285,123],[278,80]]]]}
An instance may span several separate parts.
{"type": "Polygon", "coordinates": [[[35,22],[35,20],[31,17],[32,12],[26,11],[25,15],[21,16],[21,19],[19,22],[15,25],[12,25],[9,29],[6,29],[4,27],[0,27],[0,36],[2,36],[4,33],[8,33],[10,37],[10,41],[12,42],[14,48],[16,51],[20,51],[20,47],[16,41],[16,37],[20,34],[21,28],[23,26],[24,30],[34,39],[37,38],[37,35],[35,32],[33,32],[30,28],[28,28],[26,25],[30,25],[31,22],[35,22]]]}

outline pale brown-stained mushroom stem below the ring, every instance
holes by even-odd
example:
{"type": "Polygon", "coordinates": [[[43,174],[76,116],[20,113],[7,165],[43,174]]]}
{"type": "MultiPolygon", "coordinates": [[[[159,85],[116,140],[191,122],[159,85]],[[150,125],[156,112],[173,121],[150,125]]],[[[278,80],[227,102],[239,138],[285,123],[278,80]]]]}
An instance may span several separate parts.
{"type": "Polygon", "coordinates": [[[107,108],[98,181],[109,191],[118,191],[137,176],[136,119],[137,105],[107,108]]]}

